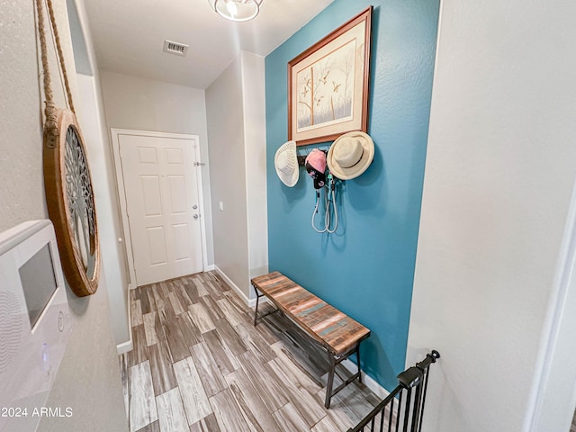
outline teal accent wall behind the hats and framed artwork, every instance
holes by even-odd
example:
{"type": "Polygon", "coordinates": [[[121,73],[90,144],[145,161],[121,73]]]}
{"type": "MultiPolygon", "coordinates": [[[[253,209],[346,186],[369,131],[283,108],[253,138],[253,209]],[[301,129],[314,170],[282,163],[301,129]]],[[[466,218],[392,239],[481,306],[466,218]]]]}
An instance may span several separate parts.
{"type": "Polygon", "coordinates": [[[362,368],[388,390],[406,358],[438,12],[439,0],[336,0],[266,57],[270,271],[372,330],[362,368]],[[275,173],[275,151],[288,137],[287,63],[370,4],[374,162],[341,185],[338,231],[319,234],[311,227],[315,193],[305,169],[293,188],[275,173]]]}

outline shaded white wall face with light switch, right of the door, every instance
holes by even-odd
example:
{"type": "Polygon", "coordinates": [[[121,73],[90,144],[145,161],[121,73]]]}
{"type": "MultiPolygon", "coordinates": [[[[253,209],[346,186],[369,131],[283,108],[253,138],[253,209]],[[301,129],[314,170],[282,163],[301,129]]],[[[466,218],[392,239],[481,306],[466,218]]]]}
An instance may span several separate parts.
{"type": "Polygon", "coordinates": [[[214,264],[248,297],[247,156],[239,56],[206,89],[206,113],[214,264]]]}

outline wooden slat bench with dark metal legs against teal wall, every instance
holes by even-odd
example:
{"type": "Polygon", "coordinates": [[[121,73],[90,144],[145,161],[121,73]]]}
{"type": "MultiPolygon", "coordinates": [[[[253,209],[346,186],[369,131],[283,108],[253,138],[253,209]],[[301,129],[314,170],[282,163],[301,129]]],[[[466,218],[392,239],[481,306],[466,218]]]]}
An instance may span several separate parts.
{"type": "Polygon", "coordinates": [[[352,383],[356,378],[362,383],[360,342],[370,336],[369,329],[278,272],[255,277],[252,279],[252,285],[257,294],[256,311],[254,312],[255,326],[258,319],[268,315],[258,316],[258,302],[261,297],[266,296],[278,310],[283,311],[311,338],[326,348],[329,357],[329,374],[324,403],[326,408],[330,407],[332,396],[346,387],[347,384],[352,383]],[[354,353],[356,353],[358,362],[358,372],[340,384],[337,389],[332,390],[336,365],[354,353]]]}

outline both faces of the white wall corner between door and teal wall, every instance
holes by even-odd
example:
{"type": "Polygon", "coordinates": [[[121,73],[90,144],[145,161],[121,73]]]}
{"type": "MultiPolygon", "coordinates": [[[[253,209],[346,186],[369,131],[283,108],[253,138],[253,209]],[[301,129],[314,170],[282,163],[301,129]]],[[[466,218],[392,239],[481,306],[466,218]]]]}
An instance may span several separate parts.
{"type": "Polygon", "coordinates": [[[206,112],[214,263],[248,302],[250,279],[268,272],[264,58],[241,51],[206,90],[206,112]]]}

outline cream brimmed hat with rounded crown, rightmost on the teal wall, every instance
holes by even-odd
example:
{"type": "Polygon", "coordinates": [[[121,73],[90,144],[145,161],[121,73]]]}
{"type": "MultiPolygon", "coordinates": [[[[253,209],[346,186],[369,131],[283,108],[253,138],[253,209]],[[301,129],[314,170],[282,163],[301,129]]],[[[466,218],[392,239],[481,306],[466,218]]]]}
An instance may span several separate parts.
{"type": "Polygon", "coordinates": [[[326,162],[330,173],[340,180],[361,175],[374,160],[374,141],[365,132],[341,135],[330,146],[326,162]]]}

